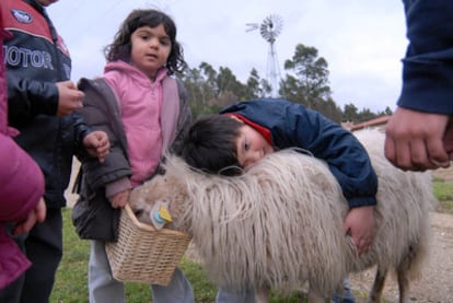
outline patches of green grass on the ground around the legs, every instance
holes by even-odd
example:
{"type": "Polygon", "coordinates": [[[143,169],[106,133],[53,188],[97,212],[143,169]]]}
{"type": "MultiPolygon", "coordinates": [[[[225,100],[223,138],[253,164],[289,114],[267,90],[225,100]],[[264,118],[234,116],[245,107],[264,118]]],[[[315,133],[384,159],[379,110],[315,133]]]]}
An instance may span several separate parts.
{"type": "MultiPolygon", "coordinates": [[[[439,200],[438,211],[453,214],[453,184],[434,179],[434,195],[439,200]]],[[[85,303],[88,302],[88,259],[89,242],[80,240],[72,226],[71,209],[63,209],[63,258],[57,271],[51,303],[85,303]]],[[[206,277],[200,264],[183,258],[181,267],[194,289],[197,303],[214,302],[217,287],[206,277]]],[[[355,293],[358,298],[367,294],[355,293]]],[[[126,302],[151,302],[150,288],[141,283],[126,283],[126,302]]],[[[270,302],[303,302],[306,298],[302,293],[293,293],[290,296],[272,294],[270,302]]]]}

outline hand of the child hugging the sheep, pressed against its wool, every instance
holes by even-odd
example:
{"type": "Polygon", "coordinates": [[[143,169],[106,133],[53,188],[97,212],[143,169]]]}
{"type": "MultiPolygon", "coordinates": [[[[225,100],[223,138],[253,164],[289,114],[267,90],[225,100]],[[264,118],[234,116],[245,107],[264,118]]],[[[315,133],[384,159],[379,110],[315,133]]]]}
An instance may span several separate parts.
{"type": "Polygon", "coordinates": [[[359,257],[365,254],[373,245],[376,234],[374,207],[351,208],[345,219],[345,231],[352,237],[359,257]]]}

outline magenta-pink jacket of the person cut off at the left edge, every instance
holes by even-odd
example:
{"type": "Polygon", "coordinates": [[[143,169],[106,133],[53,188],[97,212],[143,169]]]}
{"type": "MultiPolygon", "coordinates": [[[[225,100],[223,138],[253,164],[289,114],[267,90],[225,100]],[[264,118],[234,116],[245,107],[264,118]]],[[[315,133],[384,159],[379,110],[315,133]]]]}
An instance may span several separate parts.
{"type": "Polygon", "coordinates": [[[13,282],[30,266],[5,222],[19,222],[44,195],[44,176],[38,165],[11,138],[18,131],[8,127],[7,79],[3,61],[3,23],[0,15],[0,289],[13,282]]]}

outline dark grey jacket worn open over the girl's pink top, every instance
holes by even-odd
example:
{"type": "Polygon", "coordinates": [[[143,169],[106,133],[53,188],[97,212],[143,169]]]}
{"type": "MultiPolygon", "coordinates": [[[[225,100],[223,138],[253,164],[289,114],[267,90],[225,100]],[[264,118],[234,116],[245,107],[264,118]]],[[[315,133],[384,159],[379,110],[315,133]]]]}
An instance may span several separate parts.
{"type": "MultiPolygon", "coordinates": [[[[176,83],[181,108],[176,137],[170,145],[173,153],[179,153],[183,137],[191,121],[186,90],[177,80],[176,83]]],[[[81,114],[93,129],[108,135],[111,153],[103,164],[96,159],[81,159],[82,166],[74,186],[79,200],[72,211],[72,222],[81,238],[117,241],[120,209],[111,207],[105,197],[105,186],[131,175],[119,103],[104,79],[81,79],[79,89],[85,93],[81,114]]]]}

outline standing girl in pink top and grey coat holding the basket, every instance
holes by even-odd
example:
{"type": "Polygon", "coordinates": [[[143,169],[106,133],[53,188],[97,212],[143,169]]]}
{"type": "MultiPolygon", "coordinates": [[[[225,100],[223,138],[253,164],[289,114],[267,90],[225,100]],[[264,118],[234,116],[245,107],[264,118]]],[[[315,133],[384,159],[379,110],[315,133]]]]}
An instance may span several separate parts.
{"type": "MultiPolygon", "coordinates": [[[[108,135],[112,148],[102,164],[82,160],[80,199],[72,219],[81,236],[91,240],[90,303],[121,303],[125,285],[112,276],[105,241],[115,240],[117,213],[128,202],[130,190],[155,173],[165,152],[176,152],[191,115],[184,86],[172,77],[185,61],[169,15],[156,10],[132,11],[105,50],[104,77],[79,83],[85,94],[80,114],[93,129],[108,135]],[[101,235],[104,228],[107,232],[101,235]]],[[[151,289],[154,303],[195,302],[179,268],[167,285],[152,284],[151,289]]]]}

